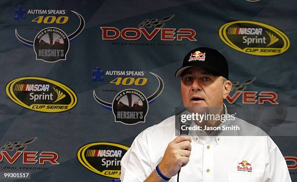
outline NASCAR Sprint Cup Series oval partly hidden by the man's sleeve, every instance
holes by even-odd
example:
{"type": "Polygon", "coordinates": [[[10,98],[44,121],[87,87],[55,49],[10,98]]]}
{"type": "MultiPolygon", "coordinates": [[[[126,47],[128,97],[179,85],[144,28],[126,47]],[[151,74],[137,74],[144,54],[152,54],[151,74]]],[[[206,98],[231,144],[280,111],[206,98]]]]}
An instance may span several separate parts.
{"type": "Polygon", "coordinates": [[[120,178],[121,159],[129,147],[109,142],[95,142],[82,146],[77,158],[83,167],[101,176],[120,178]]]}

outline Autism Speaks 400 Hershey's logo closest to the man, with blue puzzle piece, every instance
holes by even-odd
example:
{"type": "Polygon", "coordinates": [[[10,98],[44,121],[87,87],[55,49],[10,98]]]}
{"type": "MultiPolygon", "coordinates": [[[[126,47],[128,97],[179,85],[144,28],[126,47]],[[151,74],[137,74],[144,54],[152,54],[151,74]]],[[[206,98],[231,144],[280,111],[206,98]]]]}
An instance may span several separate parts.
{"type": "Polygon", "coordinates": [[[152,72],[108,70],[104,73],[97,67],[92,73],[92,81],[109,82],[100,87],[101,92],[99,89],[93,91],[94,99],[104,108],[112,110],[115,122],[123,124],[145,122],[148,105],[164,88],[161,77],[152,72]],[[152,94],[146,96],[144,92],[152,94]]]}

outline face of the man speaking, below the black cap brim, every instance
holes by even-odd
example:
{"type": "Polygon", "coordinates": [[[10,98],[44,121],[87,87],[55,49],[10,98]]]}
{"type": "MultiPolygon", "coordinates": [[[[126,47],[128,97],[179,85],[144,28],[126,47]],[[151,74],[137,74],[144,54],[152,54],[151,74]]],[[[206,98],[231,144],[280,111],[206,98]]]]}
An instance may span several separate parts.
{"type": "Polygon", "coordinates": [[[231,87],[231,82],[224,82],[222,76],[214,76],[200,68],[190,67],[183,71],[181,77],[182,103],[185,107],[221,107],[231,87]]]}

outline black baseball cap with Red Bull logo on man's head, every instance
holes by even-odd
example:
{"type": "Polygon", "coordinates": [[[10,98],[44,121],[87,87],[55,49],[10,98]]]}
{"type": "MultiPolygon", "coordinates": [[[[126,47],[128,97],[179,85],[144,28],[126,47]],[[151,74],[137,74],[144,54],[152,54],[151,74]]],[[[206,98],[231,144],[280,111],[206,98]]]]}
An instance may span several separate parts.
{"type": "Polygon", "coordinates": [[[198,47],[191,50],[184,57],[182,67],[175,72],[175,77],[181,77],[182,72],[192,66],[201,68],[214,76],[223,76],[229,79],[227,60],[215,49],[198,47]]]}

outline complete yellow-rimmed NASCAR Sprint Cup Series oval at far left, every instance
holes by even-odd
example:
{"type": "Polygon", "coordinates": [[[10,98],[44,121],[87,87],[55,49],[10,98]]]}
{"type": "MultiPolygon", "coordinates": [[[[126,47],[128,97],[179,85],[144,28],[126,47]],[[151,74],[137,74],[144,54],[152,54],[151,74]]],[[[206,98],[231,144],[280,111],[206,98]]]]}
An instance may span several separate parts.
{"type": "Polygon", "coordinates": [[[6,94],[19,106],[40,112],[63,112],[77,103],[74,91],[43,77],[16,78],[6,85],[6,94]]]}

